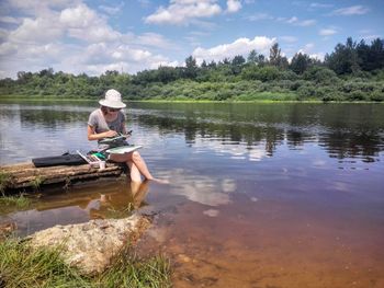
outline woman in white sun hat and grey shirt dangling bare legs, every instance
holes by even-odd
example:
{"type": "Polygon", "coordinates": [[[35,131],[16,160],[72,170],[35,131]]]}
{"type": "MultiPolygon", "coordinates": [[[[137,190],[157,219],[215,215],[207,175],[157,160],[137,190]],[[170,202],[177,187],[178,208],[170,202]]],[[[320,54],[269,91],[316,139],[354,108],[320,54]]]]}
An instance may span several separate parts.
{"type": "MultiPolygon", "coordinates": [[[[105,99],[99,101],[101,107],[91,113],[88,120],[88,140],[93,141],[126,134],[125,115],[121,112],[126,105],[122,102],[118,91],[111,89],[105,92],[105,99]]],[[[131,180],[140,182],[142,175],[155,180],[147,164],[137,151],[124,154],[110,154],[109,160],[125,162],[131,171],[131,180]]]]}

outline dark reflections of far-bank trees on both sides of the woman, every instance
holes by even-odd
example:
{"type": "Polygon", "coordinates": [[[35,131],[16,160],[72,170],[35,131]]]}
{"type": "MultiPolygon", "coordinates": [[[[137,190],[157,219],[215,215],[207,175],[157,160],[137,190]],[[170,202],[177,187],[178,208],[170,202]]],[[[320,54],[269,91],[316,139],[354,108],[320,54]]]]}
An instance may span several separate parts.
{"type": "MultiPolygon", "coordinates": [[[[331,157],[362,157],[364,161],[384,150],[384,107],[377,104],[129,104],[134,113],[136,107],[139,125],[157,127],[163,134],[183,134],[188,143],[200,137],[249,149],[264,145],[272,155],[284,140],[290,149],[297,149],[315,139],[331,157]]],[[[14,120],[20,113],[21,125],[30,129],[84,125],[89,117],[87,110],[78,111],[76,105],[11,112],[14,120]]]]}

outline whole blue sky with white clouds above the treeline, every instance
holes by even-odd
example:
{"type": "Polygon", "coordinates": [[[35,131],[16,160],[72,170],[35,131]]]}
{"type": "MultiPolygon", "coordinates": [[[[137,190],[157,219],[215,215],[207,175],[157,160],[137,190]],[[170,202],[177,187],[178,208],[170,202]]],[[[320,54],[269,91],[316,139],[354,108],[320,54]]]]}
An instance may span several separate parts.
{"type": "Polygon", "coordinates": [[[0,0],[0,78],[53,68],[100,76],[219,61],[279,43],[324,59],[384,38],[383,0],[0,0]]]}

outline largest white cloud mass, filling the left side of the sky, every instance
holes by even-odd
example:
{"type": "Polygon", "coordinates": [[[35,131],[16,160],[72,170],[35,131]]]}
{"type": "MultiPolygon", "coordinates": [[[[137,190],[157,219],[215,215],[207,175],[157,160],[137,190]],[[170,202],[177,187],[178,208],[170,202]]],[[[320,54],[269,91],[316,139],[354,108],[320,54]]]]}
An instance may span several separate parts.
{"type": "Polygon", "coordinates": [[[14,28],[0,28],[2,77],[14,77],[21,69],[38,71],[47,67],[92,76],[105,69],[134,73],[177,64],[154,51],[176,49],[162,35],[123,34],[109,25],[106,16],[80,1],[10,1],[12,9],[34,15],[24,16],[14,28]]]}

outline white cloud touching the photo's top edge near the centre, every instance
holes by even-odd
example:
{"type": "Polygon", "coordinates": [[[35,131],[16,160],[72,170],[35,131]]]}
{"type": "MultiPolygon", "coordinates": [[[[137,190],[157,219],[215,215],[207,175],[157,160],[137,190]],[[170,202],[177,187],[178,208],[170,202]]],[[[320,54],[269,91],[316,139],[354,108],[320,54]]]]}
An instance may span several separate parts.
{"type": "Polygon", "coordinates": [[[194,19],[211,18],[222,12],[216,0],[171,0],[168,8],[160,7],[145,19],[154,24],[189,24],[194,19]]]}

